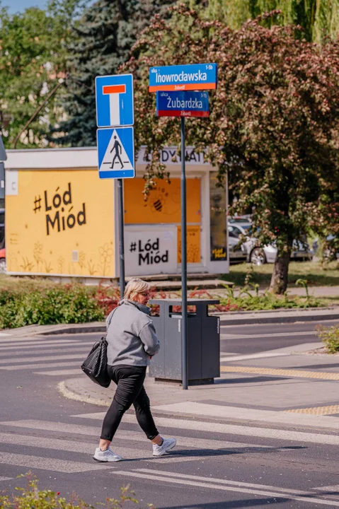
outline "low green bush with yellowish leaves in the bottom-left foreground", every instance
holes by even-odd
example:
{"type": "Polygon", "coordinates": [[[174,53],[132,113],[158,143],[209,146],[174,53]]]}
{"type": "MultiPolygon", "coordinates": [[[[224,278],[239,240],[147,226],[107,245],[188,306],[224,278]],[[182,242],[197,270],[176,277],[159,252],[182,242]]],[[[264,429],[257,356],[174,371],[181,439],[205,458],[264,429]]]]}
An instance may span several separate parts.
{"type": "MultiPolygon", "coordinates": [[[[27,486],[25,488],[16,487],[16,491],[20,494],[13,494],[7,496],[0,493],[0,507],[3,509],[84,509],[94,506],[84,502],[81,498],[73,494],[69,501],[66,498],[60,497],[59,492],[51,490],[39,490],[38,479],[36,479],[31,472],[18,477],[25,477],[27,479],[27,486]]],[[[133,498],[134,492],[130,490],[130,485],[120,488],[121,494],[118,499],[106,498],[106,503],[98,503],[96,505],[103,505],[106,509],[121,509],[127,507],[127,503],[137,504],[138,501],[133,498]]],[[[148,507],[154,508],[154,505],[147,504],[148,507]]],[[[130,504],[128,504],[130,507],[130,504]]],[[[155,508],[154,508],[155,509],[155,508]]]]}

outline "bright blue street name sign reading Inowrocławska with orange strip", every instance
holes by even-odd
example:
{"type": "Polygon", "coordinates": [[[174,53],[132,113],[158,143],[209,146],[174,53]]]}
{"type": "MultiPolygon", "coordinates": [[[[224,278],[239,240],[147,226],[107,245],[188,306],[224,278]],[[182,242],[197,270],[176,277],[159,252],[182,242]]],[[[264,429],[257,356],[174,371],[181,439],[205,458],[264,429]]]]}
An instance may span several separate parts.
{"type": "Polygon", "coordinates": [[[217,64],[151,67],[149,69],[149,92],[214,90],[217,88],[217,71],[217,64]]]}

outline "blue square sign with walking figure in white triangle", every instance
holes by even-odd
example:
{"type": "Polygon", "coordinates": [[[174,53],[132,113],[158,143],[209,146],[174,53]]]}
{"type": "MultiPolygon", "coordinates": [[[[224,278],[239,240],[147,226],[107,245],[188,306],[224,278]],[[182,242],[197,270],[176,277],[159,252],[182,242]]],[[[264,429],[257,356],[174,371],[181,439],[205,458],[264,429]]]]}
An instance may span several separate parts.
{"type": "Polygon", "coordinates": [[[133,127],[98,129],[97,144],[100,179],[134,177],[133,131],[133,127]]]}

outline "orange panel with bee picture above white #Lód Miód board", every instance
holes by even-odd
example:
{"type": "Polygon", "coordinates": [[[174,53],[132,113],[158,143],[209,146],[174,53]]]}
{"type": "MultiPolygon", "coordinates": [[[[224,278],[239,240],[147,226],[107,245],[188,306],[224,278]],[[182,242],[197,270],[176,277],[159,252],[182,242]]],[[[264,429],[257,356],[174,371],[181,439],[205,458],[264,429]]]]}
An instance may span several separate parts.
{"type": "MultiPolygon", "coordinates": [[[[144,199],[143,178],[126,179],[125,224],[180,223],[180,179],[157,180],[144,199]]],[[[200,179],[187,179],[187,221],[200,223],[200,179]]]]}

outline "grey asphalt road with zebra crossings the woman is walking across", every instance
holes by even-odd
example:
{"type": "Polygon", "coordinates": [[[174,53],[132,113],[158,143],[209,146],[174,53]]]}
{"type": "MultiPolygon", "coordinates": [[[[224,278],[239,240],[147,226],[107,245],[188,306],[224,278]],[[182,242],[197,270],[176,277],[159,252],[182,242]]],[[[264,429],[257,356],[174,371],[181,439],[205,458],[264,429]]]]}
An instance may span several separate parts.
{"type": "MultiPolygon", "coordinates": [[[[269,327],[223,327],[222,333],[277,332],[277,327],[269,327]]],[[[243,353],[243,341],[253,344],[255,351],[280,348],[291,337],[295,344],[306,341],[295,332],[311,334],[313,327],[287,324],[282,329],[279,326],[286,337],[278,340],[223,339],[222,344],[237,353],[243,353]]],[[[309,430],[304,430],[300,441],[290,440],[286,428],[277,427],[275,438],[262,438],[258,427],[246,426],[248,434],[236,435],[196,419],[181,419],[173,427],[163,417],[156,419],[159,431],[176,436],[178,447],[171,455],[153,459],[131,414],[114,442],[125,460],[94,462],[103,407],[64,399],[57,392],[57,383],[79,369],[79,357],[86,355],[96,337],[98,334],[10,341],[0,335],[0,490],[11,493],[14,486],[24,486],[24,479],[16,476],[31,470],[41,488],[65,497],[75,491],[92,504],[117,498],[120,486],[130,484],[140,503],[126,508],[146,508],[147,503],[159,509],[339,507],[338,446],[326,443],[327,435],[309,430]]]]}

